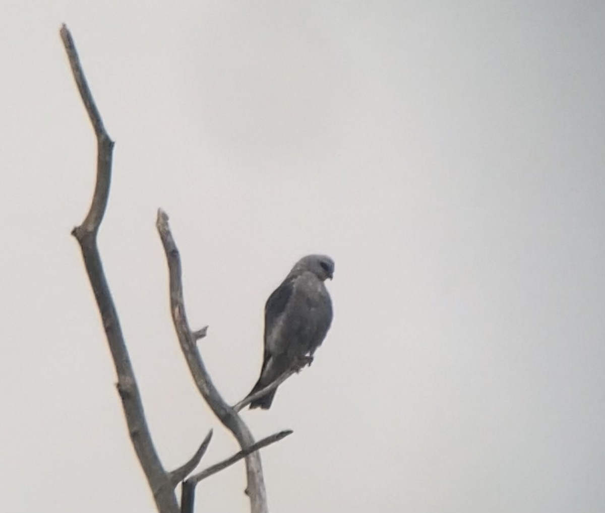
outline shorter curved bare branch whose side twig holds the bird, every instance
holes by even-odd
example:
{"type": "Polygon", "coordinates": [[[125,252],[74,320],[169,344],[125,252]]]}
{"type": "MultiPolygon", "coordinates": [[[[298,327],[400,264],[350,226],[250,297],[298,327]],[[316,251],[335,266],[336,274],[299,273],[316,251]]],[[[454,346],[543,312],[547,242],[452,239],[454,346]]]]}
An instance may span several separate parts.
{"type": "MultiPolygon", "coordinates": [[[[169,271],[170,309],[178,341],[189,366],[195,385],[214,414],[226,428],[234,434],[242,450],[250,448],[255,442],[247,425],[237,412],[230,407],[218,393],[210,375],[201,360],[195,345],[195,337],[189,328],[183,299],[181,283],[181,261],[178,249],[168,226],[168,215],[161,209],[157,213],[157,230],[166,252],[169,271]]],[[[246,457],[247,491],[250,498],[251,513],[267,513],[267,497],[263,480],[263,469],[258,452],[246,457]]],[[[183,505],[181,505],[183,506],[183,505]]]]}

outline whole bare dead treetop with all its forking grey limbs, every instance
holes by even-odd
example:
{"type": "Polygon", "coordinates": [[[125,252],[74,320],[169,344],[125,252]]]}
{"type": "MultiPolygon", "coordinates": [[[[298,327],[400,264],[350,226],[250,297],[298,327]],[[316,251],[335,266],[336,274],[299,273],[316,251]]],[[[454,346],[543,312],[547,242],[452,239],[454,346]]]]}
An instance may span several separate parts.
{"type": "MultiPolygon", "coordinates": [[[[116,387],[120,398],[122,399],[122,409],[126,418],[126,424],[128,425],[132,446],[139,458],[143,472],[145,472],[158,511],[160,513],[177,513],[179,508],[174,489],[177,484],[184,480],[187,475],[194,470],[198,463],[200,463],[212,438],[212,430],[208,433],[200,447],[188,462],[171,472],[165,471],[159,456],[155,451],[151,433],[149,433],[139,387],[126,348],[117,310],[105,278],[105,272],[103,270],[103,264],[97,245],[97,233],[99,232],[100,224],[105,215],[109,198],[114,143],[103,125],[102,118],[94,103],[93,96],[80,65],[73,38],[65,25],[63,25],[60,30],[60,37],[64,44],[80,97],[97,138],[97,176],[93,200],[91,201],[90,209],[84,221],[80,226],[74,227],[71,234],[80,244],[84,265],[88,273],[88,278],[93,289],[103,328],[105,330],[106,339],[110,347],[117,374],[116,387]]],[[[266,513],[267,501],[264,489],[263,471],[261,468],[260,456],[258,456],[257,451],[261,447],[269,445],[269,443],[281,440],[283,437],[292,433],[292,431],[281,431],[281,433],[277,433],[255,443],[250,430],[243,420],[240,419],[237,411],[224,402],[223,398],[214,387],[214,384],[212,384],[210,376],[204,367],[203,361],[201,360],[195,345],[195,342],[197,342],[198,339],[206,336],[208,327],[203,327],[195,332],[191,332],[189,329],[185,316],[185,305],[183,303],[180,257],[168,227],[168,216],[162,211],[158,212],[157,227],[160,237],[162,238],[170,272],[172,319],[177,330],[178,339],[181,343],[181,349],[189,364],[189,370],[206,402],[210,405],[221,422],[231,430],[242,449],[231,458],[224,460],[221,463],[217,463],[205,471],[200,472],[200,474],[197,474],[195,479],[191,481],[191,486],[186,486],[184,483],[183,503],[181,504],[181,508],[183,508],[183,511],[192,511],[195,483],[245,457],[247,472],[246,492],[250,497],[251,511],[252,513],[266,513]],[[188,498],[186,498],[187,491],[189,491],[188,498]]],[[[280,382],[276,382],[269,386],[273,386],[274,388],[280,384],[280,382]]],[[[264,393],[267,393],[270,389],[267,387],[263,391],[264,393]]],[[[261,391],[261,395],[263,391],[261,391]]]]}

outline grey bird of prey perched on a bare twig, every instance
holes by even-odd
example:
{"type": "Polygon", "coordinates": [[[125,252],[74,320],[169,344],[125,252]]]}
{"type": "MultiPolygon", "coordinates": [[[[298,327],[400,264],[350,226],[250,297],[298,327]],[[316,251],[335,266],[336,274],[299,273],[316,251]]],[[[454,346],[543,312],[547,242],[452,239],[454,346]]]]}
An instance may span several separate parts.
{"type": "MultiPolygon", "coordinates": [[[[334,276],[326,255],[302,257],[267,299],[264,310],[263,367],[248,397],[267,387],[299,362],[310,364],[332,324],[332,299],[325,280],[334,276]]],[[[277,388],[250,402],[268,410],[277,388]]]]}

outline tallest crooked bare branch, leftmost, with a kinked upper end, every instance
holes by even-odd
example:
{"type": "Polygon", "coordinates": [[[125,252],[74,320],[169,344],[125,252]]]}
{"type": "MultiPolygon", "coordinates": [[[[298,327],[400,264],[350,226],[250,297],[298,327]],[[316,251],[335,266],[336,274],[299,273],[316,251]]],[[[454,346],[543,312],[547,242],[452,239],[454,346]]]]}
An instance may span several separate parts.
{"type": "Polygon", "coordinates": [[[122,335],[122,328],[117,315],[116,307],[107,281],[103,264],[97,247],[97,231],[105,214],[107,198],[111,181],[111,158],[113,154],[113,141],[105,131],[99,111],[94,103],[93,96],[88,88],[80,61],[77,56],[76,47],[71,38],[70,31],[63,25],[60,30],[65,51],[71,65],[71,71],[80,91],[80,97],[93,124],[97,136],[97,180],[94,189],[93,201],[90,210],[80,226],[71,232],[80,244],[82,257],[90,284],[93,287],[94,297],[105,328],[105,335],[110,347],[111,356],[116,367],[117,390],[122,398],[122,408],[128,433],[139,457],[139,462],[145,472],[149,486],[153,492],[155,505],[162,513],[178,512],[177,500],[172,483],[160,463],[155,452],[151,434],[143,413],[139,387],[134,377],[134,371],[126,350],[126,344],[122,335]]]}

